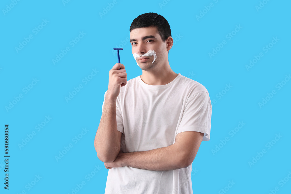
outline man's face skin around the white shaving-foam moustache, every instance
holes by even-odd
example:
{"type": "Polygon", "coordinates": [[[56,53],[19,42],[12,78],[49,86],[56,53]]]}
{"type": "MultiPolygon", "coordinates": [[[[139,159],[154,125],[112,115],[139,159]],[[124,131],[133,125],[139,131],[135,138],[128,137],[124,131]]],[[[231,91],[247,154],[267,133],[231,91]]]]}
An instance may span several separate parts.
{"type": "Polygon", "coordinates": [[[143,55],[152,49],[156,52],[157,55],[154,63],[152,63],[152,61],[154,60],[154,56],[141,56],[137,58],[137,63],[142,70],[149,70],[156,65],[165,63],[168,60],[168,50],[170,49],[167,49],[166,42],[162,40],[156,26],[136,28],[130,32],[132,54],[137,53],[139,55],[143,55]]]}

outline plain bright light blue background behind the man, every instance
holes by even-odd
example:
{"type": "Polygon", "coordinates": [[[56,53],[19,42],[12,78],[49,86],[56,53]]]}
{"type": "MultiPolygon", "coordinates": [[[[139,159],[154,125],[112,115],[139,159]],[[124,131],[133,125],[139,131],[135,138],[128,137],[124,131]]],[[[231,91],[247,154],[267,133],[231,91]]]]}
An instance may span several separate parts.
{"type": "Polygon", "coordinates": [[[203,84],[211,101],[216,100],[212,104],[211,140],[201,144],[193,162],[193,192],[223,193],[221,189],[233,181],[235,184],[226,188],[229,194],[270,193],[275,187],[279,188],[276,193],[290,193],[291,180],[288,178],[283,187],[279,181],[291,171],[291,81],[280,90],[276,88],[291,73],[290,1],[265,0],[266,4],[257,10],[262,1],[117,0],[102,17],[99,13],[113,1],[15,2],[13,5],[11,0],[3,0],[0,5],[1,158],[4,124],[9,124],[10,135],[10,185],[9,191],[3,188],[4,162],[0,162],[1,193],[24,190],[29,194],[67,194],[82,181],[86,184],[78,194],[104,193],[108,169],[97,158],[94,138],[108,88],[108,72],[117,63],[116,51],[112,51],[114,47],[123,47],[120,61],[125,65],[128,80],[142,73],[126,40],[133,19],[148,12],[161,14],[171,26],[175,45],[169,52],[169,63],[173,71],[203,84]],[[210,3],[213,7],[206,10],[210,3]],[[203,10],[205,14],[197,19],[203,10]],[[43,19],[49,22],[37,34],[33,33],[43,19]],[[226,35],[236,25],[242,28],[228,40],[226,35]],[[70,41],[80,31],[86,34],[72,47],[70,41]],[[33,38],[17,52],[15,47],[29,35],[33,38]],[[276,37],[278,42],[265,53],[263,47],[276,37]],[[226,45],[210,58],[209,53],[223,40],[226,45]],[[70,51],[54,65],[52,60],[66,47],[70,51]],[[247,70],[249,60],[260,52],[264,56],[247,70]],[[82,80],[92,69],[98,73],[85,84],[82,80]],[[38,79],[38,83],[25,93],[23,88],[29,87],[33,79],[38,79]],[[79,84],[83,88],[67,102],[65,97],[79,84]],[[225,93],[226,84],[232,87],[225,93]],[[260,107],[258,103],[272,90],[276,94],[260,107]],[[5,107],[20,93],[23,97],[7,111],[5,107]],[[44,122],[46,116],[52,119],[37,131],[36,125],[44,122]],[[231,136],[229,131],[239,122],[245,125],[231,136]],[[82,128],[88,131],[76,143],[73,138],[82,128]],[[20,149],[22,139],[33,131],[36,135],[20,149]],[[274,140],[276,134],[282,136],[278,141],[274,140]],[[219,144],[226,137],[229,141],[219,144]],[[275,144],[268,149],[266,144],[272,140],[275,144]],[[55,156],[70,143],[73,147],[56,161],[55,156]],[[213,154],[216,145],[221,148],[213,154]],[[266,153],[257,156],[262,149],[266,153]],[[256,156],[260,159],[250,166],[256,156]],[[86,176],[95,166],[99,170],[88,180],[86,176]],[[38,175],[42,178],[28,187],[38,175]]]}

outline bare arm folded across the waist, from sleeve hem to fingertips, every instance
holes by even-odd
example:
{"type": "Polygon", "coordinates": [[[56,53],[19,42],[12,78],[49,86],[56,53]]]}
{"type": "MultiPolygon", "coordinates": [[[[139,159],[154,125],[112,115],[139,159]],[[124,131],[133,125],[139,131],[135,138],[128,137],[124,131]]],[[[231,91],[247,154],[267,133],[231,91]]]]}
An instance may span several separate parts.
{"type": "Polygon", "coordinates": [[[173,145],[142,152],[119,152],[117,158],[104,163],[106,168],[130,166],[146,170],[175,170],[189,166],[200,147],[204,133],[184,131],[173,145]]]}

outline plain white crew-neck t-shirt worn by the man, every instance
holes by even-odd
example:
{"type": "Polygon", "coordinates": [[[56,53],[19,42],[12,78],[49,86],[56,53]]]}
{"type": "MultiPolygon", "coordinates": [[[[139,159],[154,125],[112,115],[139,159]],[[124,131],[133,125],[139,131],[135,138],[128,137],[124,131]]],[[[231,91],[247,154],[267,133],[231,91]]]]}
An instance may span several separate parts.
{"type": "MultiPolygon", "coordinates": [[[[203,141],[210,140],[211,112],[206,88],[180,73],[161,86],[148,85],[140,76],[130,79],[120,88],[116,101],[117,130],[123,133],[121,151],[166,147],[174,144],[176,135],[183,131],[198,131],[204,133],[203,141]]],[[[166,171],[112,168],[105,194],[191,194],[191,171],[192,164],[166,171]]]]}

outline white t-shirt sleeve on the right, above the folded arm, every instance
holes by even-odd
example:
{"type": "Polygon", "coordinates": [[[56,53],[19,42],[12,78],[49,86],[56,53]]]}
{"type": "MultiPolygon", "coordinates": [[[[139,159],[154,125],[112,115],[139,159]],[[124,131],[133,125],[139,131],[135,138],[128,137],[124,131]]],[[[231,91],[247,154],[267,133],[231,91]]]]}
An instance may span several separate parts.
{"type": "Polygon", "coordinates": [[[202,141],[210,140],[212,106],[207,92],[190,96],[184,106],[177,134],[184,131],[204,133],[202,141]]]}

